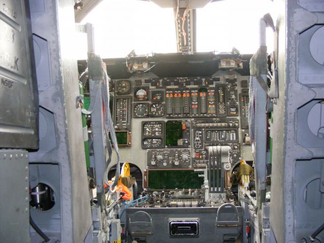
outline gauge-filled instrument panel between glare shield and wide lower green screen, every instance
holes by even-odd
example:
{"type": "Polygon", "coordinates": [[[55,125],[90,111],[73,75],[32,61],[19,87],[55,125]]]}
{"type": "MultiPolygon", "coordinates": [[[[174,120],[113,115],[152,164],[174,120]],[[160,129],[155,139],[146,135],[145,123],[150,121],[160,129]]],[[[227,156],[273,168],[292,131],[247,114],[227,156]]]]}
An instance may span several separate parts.
{"type": "Polygon", "coordinates": [[[242,143],[248,78],[222,73],[113,80],[115,131],[132,134],[123,149],[144,168],[199,169],[209,166],[209,146],[224,145],[235,165],[242,146],[249,146],[242,143]]]}

